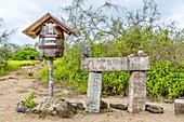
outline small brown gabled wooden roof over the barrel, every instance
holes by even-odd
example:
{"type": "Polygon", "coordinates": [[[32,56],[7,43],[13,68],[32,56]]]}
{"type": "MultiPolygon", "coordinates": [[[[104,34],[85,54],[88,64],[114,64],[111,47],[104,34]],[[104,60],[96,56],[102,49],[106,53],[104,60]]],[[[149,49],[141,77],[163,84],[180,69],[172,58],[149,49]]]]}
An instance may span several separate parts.
{"type": "MultiPolygon", "coordinates": [[[[61,23],[57,18],[55,18],[53,15],[51,15],[50,13],[47,13],[44,16],[42,16],[40,19],[38,19],[37,22],[35,22],[31,26],[29,26],[28,28],[26,28],[23,32],[25,35],[27,35],[28,37],[36,39],[39,35],[40,31],[42,29],[42,27],[45,25],[45,23],[48,22],[52,22],[54,24],[56,24],[56,31],[58,33],[62,33],[63,31],[65,31],[68,35],[75,35],[75,32],[68,28],[66,25],[64,25],[63,23],[61,23]]],[[[75,35],[76,36],[76,35],[75,35]]]]}

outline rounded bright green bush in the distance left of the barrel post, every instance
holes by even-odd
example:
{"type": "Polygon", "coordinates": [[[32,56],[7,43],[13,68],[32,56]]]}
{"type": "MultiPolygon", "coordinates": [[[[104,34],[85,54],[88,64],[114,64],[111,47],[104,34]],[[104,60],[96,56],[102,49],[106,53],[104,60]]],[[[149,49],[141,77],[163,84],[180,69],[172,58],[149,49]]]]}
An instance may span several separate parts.
{"type": "Polygon", "coordinates": [[[39,52],[34,49],[25,48],[12,55],[12,60],[29,60],[34,56],[39,56],[39,52]]]}

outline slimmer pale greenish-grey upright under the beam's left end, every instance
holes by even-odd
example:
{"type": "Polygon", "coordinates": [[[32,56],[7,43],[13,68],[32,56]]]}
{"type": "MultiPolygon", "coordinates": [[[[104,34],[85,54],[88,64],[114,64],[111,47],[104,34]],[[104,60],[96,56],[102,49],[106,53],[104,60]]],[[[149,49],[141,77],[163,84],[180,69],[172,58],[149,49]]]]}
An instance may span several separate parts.
{"type": "Polygon", "coordinates": [[[87,91],[87,108],[89,112],[100,112],[100,98],[102,90],[102,72],[90,72],[87,91]]]}

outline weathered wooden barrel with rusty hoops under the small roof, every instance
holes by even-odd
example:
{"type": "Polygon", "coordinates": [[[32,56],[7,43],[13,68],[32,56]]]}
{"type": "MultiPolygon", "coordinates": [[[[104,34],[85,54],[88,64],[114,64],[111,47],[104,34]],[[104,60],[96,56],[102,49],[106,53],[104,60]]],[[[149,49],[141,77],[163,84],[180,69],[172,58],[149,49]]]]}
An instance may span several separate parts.
{"type": "Polygon", "coordinates": [[[62,57],[64,52],[64,36],[40,35],[39,50],[41,57],[62,57]]]}

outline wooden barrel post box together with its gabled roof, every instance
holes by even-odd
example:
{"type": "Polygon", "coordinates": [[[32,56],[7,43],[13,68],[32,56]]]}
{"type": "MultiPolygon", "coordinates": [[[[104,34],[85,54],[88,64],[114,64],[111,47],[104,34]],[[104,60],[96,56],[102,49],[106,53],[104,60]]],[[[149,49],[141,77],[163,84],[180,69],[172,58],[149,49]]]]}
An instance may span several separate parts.
{"type": "Polygon", "coordinates": [[[42,16],[23,32],[32,39],[39,36],[41,57],[62,57],[65,44],[64,32],[75,35],[70,28],[50,13],[42,16]]]}

